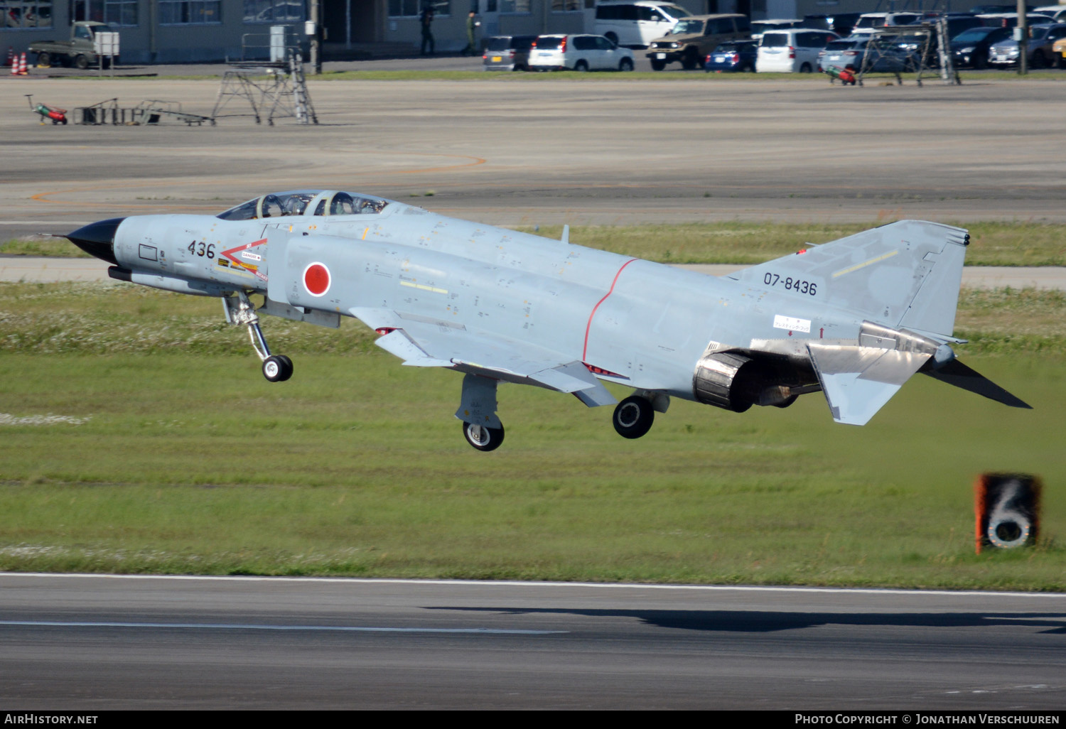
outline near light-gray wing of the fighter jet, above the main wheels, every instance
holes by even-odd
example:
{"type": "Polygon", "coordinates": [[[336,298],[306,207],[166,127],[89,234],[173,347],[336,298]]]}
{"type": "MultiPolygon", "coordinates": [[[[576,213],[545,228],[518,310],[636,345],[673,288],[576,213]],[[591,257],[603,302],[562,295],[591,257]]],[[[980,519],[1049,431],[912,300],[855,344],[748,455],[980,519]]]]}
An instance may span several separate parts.
{"type": "Polygon", "coordinates": [[[383,333],[375,344],[410,367],[446,367],[569,392],[588,407],[617,402],[582,362],[550,350],[389,309],[355,308],[351,313],[383,333]]]}

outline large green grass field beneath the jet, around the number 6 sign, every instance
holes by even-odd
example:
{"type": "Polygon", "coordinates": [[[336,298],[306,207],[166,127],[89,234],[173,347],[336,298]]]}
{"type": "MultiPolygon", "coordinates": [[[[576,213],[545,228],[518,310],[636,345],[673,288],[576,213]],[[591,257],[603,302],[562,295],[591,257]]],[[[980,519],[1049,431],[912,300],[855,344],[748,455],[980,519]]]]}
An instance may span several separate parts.
{"type": "Polygon", "coordinates": [[[865,427],[818,394],[675,401],[627,441],[610,408],[505,386],[490,454],[451,415],[455,373],[352,321],[269,319],[296,363],[271,385],[216,309],[0,285],[0,569],[1066,588],[1059,292],[960,302],[965,361],[1034,410],[916,376],[865,427]],[[988,470],[1044,477],[1036,548],[974,555],[988,470]]]}

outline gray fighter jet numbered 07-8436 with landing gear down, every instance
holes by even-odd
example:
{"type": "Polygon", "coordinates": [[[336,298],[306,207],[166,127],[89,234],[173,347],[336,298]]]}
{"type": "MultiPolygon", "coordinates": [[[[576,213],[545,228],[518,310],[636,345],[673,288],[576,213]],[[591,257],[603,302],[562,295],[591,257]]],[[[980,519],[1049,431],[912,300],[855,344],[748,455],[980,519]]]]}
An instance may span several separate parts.
{"type": "Polygon", "coordinates": [[[821,391],[862,425],[910,375],[1029,407],[955,359],[969,236],[901,221],[714,277],[333,190],[272,193],[219,215],[139,215],[67,236],[116,279],[219,296],[266,379],[292,375],[260,313],[337,327],[355,317],[413,367],[464,374],[467,441],[503,441],[496,389],[523,383],[616,403],[639,438],[669,399],[743,412],[821,391]],[[261,296],[262,303],[253,303],[261,296]],[[601,382],[602,380],[602,382],[601,382]]]}

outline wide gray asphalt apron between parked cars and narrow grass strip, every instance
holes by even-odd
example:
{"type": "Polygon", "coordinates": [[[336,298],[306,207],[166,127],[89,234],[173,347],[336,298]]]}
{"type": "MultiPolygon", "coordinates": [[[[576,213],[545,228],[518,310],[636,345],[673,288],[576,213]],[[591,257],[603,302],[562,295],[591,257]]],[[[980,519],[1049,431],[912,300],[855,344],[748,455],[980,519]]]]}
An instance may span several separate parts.
{"type": "MultiPolygon", "coordinates": [[[[1066,157],[1066,84],[572,76],[311,80],[318,126],[251,116],[42,126],[25,104],[4,104],[0,240],[138,213],[216,213],[295,188],[502,225],[1066,220],[1055,164],[1066,157]]],[[[162,97],[201,114],[220,88],[217,79],[0,84],[6,98],[32,93],[67,109],[162,97]]]]}

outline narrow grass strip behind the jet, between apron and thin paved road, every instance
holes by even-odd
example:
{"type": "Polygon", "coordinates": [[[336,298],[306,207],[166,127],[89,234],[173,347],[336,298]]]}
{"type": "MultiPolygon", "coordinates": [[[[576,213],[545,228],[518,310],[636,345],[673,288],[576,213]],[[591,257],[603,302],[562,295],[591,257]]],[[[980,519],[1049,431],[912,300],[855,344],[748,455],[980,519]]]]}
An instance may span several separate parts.
{"type": "MultiPolygon", "coordinates": [[[[760,263],[795,253],[808,243],[827,243],[894,220],[898,216],[854,224],[731,222],[572,226],[570,241],[663,263],[760,263]]],[[[968,228],[972,239],[966,254],[967,265],[1066,265],[1062,226],[1033,221],[956,225],[968,228]]],[[[519,229],[534,232],[532,228],[519,229]]],[[[537,232],[559,238],[562,231],[562,226],[544,226],[537,232]]],[[[7,241],[0,244],[0,253],[87,256],[56,238],[7,241]]]]}

